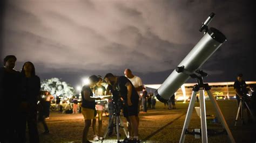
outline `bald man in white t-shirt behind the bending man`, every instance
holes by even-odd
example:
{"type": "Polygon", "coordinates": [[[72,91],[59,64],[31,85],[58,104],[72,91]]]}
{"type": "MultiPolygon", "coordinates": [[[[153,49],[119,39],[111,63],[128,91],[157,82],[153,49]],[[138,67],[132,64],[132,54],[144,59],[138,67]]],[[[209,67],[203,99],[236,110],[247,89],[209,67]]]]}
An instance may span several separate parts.
{"type": "MultiPolygon", "coordinates": [[[[124,75],[132,82],[134,88],[136,89],[136,91],[138,92],[139,95],[139,106],[138,106],[138,112],[140,110],[140,105],[142,104],[142,97],[140,96],[140,92],[142,92],[143,90],[143,83],[142,83],[142,79],[140,79],[140,77],[135,76],[132,74],[131,69],[125,69],[124,70],[124,75]]],[[[139,117],[136,117],[138,126],[139,126],[139,117]]]]}

